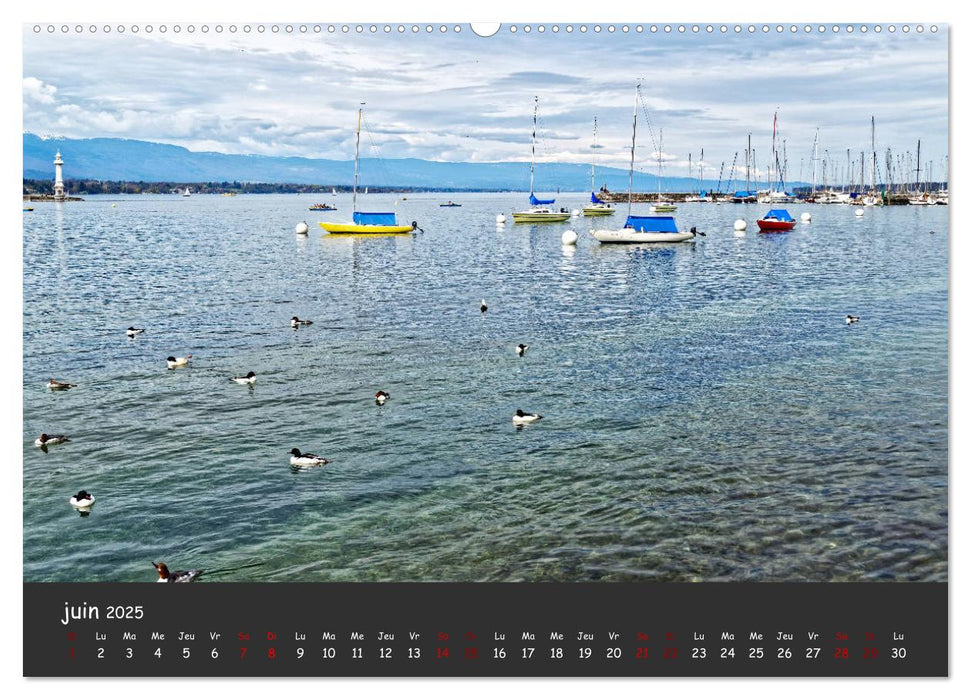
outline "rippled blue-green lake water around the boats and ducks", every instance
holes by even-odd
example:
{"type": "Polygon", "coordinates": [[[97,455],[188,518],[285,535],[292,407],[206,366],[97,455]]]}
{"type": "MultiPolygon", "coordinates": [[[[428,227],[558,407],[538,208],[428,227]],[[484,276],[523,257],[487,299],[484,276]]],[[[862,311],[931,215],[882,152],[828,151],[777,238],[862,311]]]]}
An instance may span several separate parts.
{"type": "Polygon", "coordinates": [[[25,578],[946,580],[946,207],[767,236],[763,205],[682,205],[707,237],[636,247],[497,229],[523,200],[408,195],[424,233],[372,239],[321,235],[344,196],[35,204],[25,578]]]}

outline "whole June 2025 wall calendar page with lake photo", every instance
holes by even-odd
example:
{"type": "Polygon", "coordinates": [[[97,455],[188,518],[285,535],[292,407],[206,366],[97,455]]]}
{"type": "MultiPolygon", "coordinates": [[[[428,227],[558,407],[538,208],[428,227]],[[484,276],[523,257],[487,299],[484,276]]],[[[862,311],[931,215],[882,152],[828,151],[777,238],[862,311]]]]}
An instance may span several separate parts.
{"type": "Polygon", "coordinates": [[[23,24],[24,676],[948,676],[948,25],[552,20],[23,24]]]}

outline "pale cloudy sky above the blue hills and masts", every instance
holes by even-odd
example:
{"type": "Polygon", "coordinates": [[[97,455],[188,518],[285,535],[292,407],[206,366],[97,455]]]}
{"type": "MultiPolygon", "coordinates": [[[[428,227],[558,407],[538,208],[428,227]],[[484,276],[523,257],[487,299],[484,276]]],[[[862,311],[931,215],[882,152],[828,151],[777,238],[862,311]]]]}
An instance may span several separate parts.
{"type": "MultiPolygon", "coordinates": [[[[103,26],[103,25],[99,25],[103,26]]],[[[116,27],[117,25],[113,25],[116,27]]],[[[842,24],[834,33],[786,25],[765,34],[715,25],[679,34],[617,31],[553,33],[508,25],[490,38],[468,27],[444,34],[424,25],[417,34],[392,26],[385,34],[334,34],[322,25],[301,33],[279,25],[201,25],[175,33],[145,24],[137,33],[99,29],[62,34],[24,29],[24,129],[71,138],[122,137],[192,150],[294,155],[346,160],[353,156],[355,111],[366,102],[370,137],[384,158],[450,161],[528,160],[533,98],[539,96],[541,158],[626,167],[633,86],[640,82],[655,137],[663,131],[665,173],[687,175],[705,149],[706,177],[726,177],[744,159],[752,134],[764,165],[773,114],[786,140],[789,179],[810,177],[813,138],[820,157],[845,168],[869,150],[870,116],[877,150],[915,151],[940,172],[947,155],[947,28],[922,33],[888,25],[877,34],[842,24]],[[594,116],[602,148],[591,149],[594,116]]],[[[452,25],[449,25],[450,27],[452,25]]],[[[639,169],[651,170],[655,150],[639,116],[639,169]]],[[[780,145],[781,149],[781,145],[780,145]]]]}

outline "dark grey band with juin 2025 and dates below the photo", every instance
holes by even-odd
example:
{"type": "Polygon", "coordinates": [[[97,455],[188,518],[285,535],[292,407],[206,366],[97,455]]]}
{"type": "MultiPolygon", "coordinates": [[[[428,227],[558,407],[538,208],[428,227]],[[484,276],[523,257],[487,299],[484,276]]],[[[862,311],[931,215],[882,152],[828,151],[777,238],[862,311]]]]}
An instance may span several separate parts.
{"type": "Polygon", "coordinates": [[[24,584],[25,676],[946,676],[946,583],[24,584]]]}

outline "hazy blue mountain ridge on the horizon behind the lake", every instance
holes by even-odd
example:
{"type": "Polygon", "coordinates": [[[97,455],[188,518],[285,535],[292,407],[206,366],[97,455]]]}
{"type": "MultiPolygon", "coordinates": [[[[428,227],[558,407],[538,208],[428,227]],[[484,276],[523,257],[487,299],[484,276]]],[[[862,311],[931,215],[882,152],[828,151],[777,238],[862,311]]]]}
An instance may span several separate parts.
{"type": "MultiPolygon", "coordinates": [[[[262,182],[350,186],[354,161],[314,158],[229,155],[190,151],[151,141],[130,139],[43,139],[23,135],[25,178],[53,179],[54,154],[60,150],[65,178],[125,180],[130,182],[262,182]]],[[[361,159],[361,186],[418,189],[528,190],[527,163],[450,163],[403,159],[361,159]]],[[[628,173],[618,168],[597,168],[597,187],[627,190],[628,173]]],[[[705,180],[705,188],[716,182],[705,180]]],[[[542,163],[536,168],[537,192],[557,188],[582,192],[590,187],[590,166],[542,163]]],[[[697,180],[664,178],[665,191],[691,191],[697,180]]],[[[634,173],[634,188],[657,189],[657,179],[634,173]]],[[[727,189],[727,183],[723,183],[727,189]]]]}

